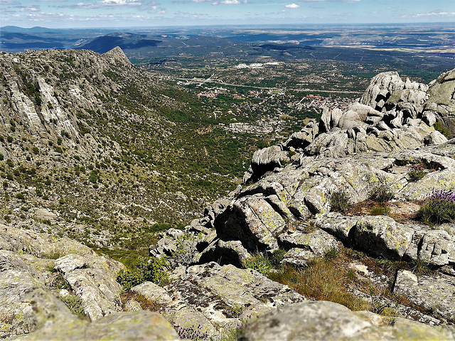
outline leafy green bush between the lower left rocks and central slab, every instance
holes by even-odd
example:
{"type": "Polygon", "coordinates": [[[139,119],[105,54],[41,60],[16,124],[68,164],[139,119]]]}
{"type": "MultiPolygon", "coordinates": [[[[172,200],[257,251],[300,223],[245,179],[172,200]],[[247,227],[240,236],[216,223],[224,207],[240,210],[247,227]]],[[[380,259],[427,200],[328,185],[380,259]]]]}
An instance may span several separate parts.
{"type": "Polygon", "coordinates": [[[130,290],[133,286],[151,281],[156,284],[168,282],[168,274],[164,267],[166,258],[139,257],[131,269],[121,270],[117,275],[117,282],[122,284],[125,290],[130,290]]]}

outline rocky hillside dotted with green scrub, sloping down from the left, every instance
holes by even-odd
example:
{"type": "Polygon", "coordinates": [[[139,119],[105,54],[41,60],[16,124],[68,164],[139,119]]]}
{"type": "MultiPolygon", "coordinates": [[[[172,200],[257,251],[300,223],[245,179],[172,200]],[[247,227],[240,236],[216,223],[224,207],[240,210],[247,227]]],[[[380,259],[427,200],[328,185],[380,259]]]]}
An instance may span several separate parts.
{"type": "Polygon", "coordinates": [[[257,148],[119,48],[1,53],[0,68],[1,222],[148,247],[234,189],[257,148]]]}

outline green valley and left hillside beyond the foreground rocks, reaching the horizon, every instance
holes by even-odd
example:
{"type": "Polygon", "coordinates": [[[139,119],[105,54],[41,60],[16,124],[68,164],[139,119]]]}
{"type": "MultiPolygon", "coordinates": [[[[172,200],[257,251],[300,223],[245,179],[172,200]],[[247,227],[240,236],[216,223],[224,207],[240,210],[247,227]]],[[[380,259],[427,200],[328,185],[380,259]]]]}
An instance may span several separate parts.
{"type": "MultiPolygon", "coordinates": [[[[420,56],[387,50],[379,38],[382,48],[368,47],[355,30],[30,29],[100,53],[120,45],[134,67],[123,52],[100,70],[87,50],[2,53],[0,217],[113,254],[144,254],[160,229],[183,227],[234,190],[257,148],[285,141],[324,107],[347,109],[373,75],[392,69],[428,82],[453,60],[446,31],[432,42],[438,51],[420,56]],[[43,124],[38,131],[30,117],[43,124]]],[[[0,48],[24,35],[2,28],[0,48]]]]}

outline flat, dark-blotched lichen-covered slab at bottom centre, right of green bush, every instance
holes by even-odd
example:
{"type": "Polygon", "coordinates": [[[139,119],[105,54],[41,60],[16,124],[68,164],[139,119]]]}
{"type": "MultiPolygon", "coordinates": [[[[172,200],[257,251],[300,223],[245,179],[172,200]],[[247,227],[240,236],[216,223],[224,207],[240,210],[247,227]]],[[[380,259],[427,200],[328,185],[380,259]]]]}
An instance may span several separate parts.
{"type": "Polygon", "coordinates": [[[208,337],[228,333],[242,321],[304,297],[257,271],[220,266],[215,262],[177,268],[172,283],[160,287],[146,282],[132,288],[163,306],[178,328],[200,328],[208,337]]]}

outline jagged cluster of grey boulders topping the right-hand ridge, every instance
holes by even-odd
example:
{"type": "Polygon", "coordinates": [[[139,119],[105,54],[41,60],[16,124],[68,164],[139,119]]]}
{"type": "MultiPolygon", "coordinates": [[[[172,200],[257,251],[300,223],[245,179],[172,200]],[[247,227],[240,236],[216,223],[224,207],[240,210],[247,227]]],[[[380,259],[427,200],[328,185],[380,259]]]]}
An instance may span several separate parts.
{"type": "Polygon", "coordinates": [[[244,175],[244,183],[257,181],[267,171],[284,166],[289,162],[287,152],[337,158],[353,153],[391,152],[444,143],[446,137],[435,131],[433,125],[436,121],[444,121],[442,117],[450,121],[455,91],[451,75],[454,72],[441,75],[430,87],[409,79],[403,81],[397,72],[380,73],[373,77],[360,102],[352,104],[346,112],[326,108],[319,124],[310,121],[284,144],[256,151],[252,165],[244,175]],[[444,98],[444,104],[435,104],[441,102],[438,96],[444,98]],[[442,114],[435,109],[437,105],[444,108],[439,109],[442,114]]]}

